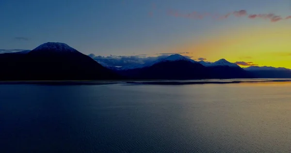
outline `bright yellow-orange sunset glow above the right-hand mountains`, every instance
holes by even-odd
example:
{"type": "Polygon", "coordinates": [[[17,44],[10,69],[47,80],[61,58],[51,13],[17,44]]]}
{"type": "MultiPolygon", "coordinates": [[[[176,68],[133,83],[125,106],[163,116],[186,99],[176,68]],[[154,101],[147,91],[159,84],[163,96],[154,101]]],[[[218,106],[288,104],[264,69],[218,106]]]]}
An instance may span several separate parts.
{"type": "MultiPolygon", "coordinates": [[[[253,62],[259,66],[291,68],[290,25],[268,24],[209,32],[200,42],[172,47],[172,51],[191,52],[187,56],[206,61],[253,62]]],[[[186,54],[185,54],[186,55],[186,54]]],[[[242,66],[241,67],[247,67],[242,66]]]]}

